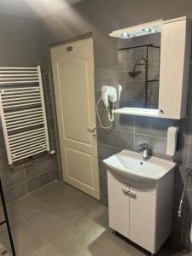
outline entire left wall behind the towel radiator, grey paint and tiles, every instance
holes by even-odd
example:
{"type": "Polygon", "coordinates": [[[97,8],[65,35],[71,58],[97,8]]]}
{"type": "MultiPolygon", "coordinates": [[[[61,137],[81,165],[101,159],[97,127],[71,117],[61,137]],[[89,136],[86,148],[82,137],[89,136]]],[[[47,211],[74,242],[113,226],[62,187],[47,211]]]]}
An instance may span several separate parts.
{"type": "MultiPolygon", "coordinates": [[[[0,15],[0,66],[35,67],[44,70],[44,40],[38,20],[21,18],[14,15],[0,15]]],[[[50,97],[48,74],[43,75],[45,104],[49,123],[51,147],[54,143],[54,128],[51,126],[53,113],[50,97]]],[[[6,201],[13,201],[22,195],[38,189],[55,180],[55,159],[43,156],[15,166],[9,170],[3,131],[0,128],[0,176],[6,201]]]]}

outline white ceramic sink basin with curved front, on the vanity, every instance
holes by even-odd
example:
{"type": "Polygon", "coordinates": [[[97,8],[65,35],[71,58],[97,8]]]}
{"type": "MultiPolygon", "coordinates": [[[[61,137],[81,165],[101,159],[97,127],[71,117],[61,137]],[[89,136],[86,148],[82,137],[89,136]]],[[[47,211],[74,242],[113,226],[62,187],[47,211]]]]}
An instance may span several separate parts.
{"type": "Polygon", "coordinates": [[[157,183],[176,166],[170,160],[151,156],[143,160],[142,154],[130,150],[122,150],[103,160],[108,170],[132,183],[157,183]]]}

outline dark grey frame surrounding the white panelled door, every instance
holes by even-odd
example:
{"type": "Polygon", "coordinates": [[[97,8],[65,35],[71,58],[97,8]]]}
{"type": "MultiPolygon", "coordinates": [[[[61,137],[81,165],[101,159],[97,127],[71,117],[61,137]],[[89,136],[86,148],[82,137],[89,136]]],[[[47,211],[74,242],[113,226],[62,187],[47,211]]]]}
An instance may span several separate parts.
{"type": "MultiPolygon", "coordinates": [[[[51,96],[52,96],[52,105],[53,105],[53,112],[54,112],[54,119],[55,119],[55,137],[56,137],[56,150],[57,150],[57,156],[58,156],[58,167],[59,167],[59,179],[63,182],[64,177],[63,177],[63,168],[62,168],[62,160],[61,160],[61,144],[60,144],[60,134],[59,134],[59,127],[57,123],[57,110],[56,110],[56,102],[55,102],[55,85],[54,85],[54,79],[53,79],[53,68],[51,64],[51,55],[50,55],[50,49],[52,47],[56,47],[62,44],[68,44],[68,43],[73,43],[77,42],[80,40],[84,40],[87,38],[92,38],[93,41],[93,62],[94,62],[94,69],[95,69],[95,51],[94,51],[94,38],[93,38],[93,33],[89,32],[86,33],[82,36],[75,37],[75,38],[69,38],[67,40],[63,40],[57,43],[52,43],[49,44],[49,83],[50,83],[50,90],[51,90],[51,96]]],[[[94,73],[93,73],[94,76],[94,73]]],[[[95,95],[95,76],[94,76],[94,96],[95,95]]],[[[95,98],[95,97],[94,97],[95,98]]],[[[95,104],[96,106],[96,104],[95,104]]],[[[96,108],[96,107],[95,107],[96,108]]],[[[96,110],[96,109],[95,109],[96,110]]],[[[96,114],[96,111],[95,111],[96,114]]],[[[97,150],[97,141],[96,141],[96,150],[97,150]]],[[[97,175],[98,175],[98,189],[99,189],[99,195],[98,195],[98,200],[100,200],[100,179],[99,179],[99,166],[98,166],[98,155],[97,155],[97,175]]]]}

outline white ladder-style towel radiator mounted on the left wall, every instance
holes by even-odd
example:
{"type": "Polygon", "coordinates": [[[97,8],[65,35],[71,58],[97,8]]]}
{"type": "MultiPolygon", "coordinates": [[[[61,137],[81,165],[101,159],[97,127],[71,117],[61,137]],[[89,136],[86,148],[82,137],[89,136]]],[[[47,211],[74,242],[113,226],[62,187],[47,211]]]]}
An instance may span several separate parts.
{"type": "Polygon", "coordinates": [[[0,113],[9,166],[49,152],[40,67],[0,67],[0,113]]]}

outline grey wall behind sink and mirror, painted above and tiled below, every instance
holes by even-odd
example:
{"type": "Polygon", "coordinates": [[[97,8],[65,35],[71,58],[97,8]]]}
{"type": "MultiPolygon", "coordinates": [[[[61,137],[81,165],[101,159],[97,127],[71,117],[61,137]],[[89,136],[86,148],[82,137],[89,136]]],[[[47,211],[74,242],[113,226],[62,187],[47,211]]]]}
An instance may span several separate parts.
{"type": "MultiPolygon", "coordinates": [[[[118,42],[109,38],[114,29],[134,26],[139,23],[192,16],[190,0],[84,0],[73,8],[64,9],[42,21],[45,44],[55,44],[93,32],[95,50],[96,99],[101,95],[102,84],[117,85],[118,42]]],[[[172,240],[176,245],[189,247],[189,228],[192,217],[192,184],[189,182],[182,218],[177,218],[177,207],[183,189],[186,166],[192,164],[191,138],[192,73],[189,83],[188,117],[177,121],[117,115],[116,125],[111,132],[97,128],[100,164],[101,201],[108,203],[106,170],[102,159],[119,152],[122,148],[137,150],[139,143],[148,143],[153,154],[166,156],[166,130],[169,125],[179,125],[178,151],[174,160],[178,163],[175,178],[172,240]]],[[[107,122],[107,119],[106,119],[107,122]]]]}

